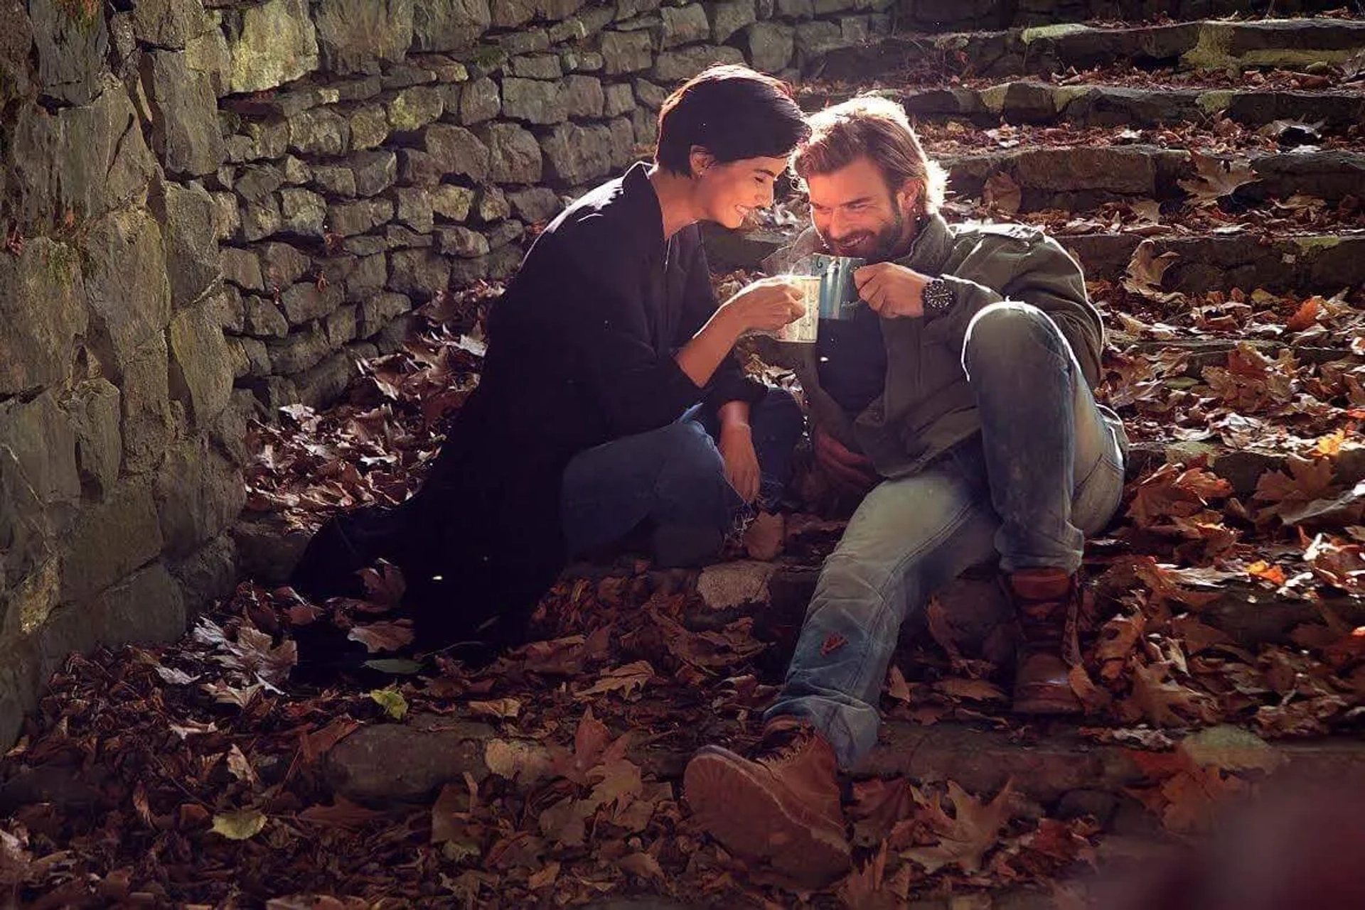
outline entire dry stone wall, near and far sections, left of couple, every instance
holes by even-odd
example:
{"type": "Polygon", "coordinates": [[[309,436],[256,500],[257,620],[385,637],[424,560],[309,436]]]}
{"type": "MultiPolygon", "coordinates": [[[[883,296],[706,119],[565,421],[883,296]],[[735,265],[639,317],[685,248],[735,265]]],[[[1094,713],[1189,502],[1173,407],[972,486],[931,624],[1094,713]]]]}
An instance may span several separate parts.
{"type": "Polygon", "coordinates": [[[891,7],[0,0],[0,739],[71,651],[231,589],[248,416],[511,274],[678,80],[891,7]]]}

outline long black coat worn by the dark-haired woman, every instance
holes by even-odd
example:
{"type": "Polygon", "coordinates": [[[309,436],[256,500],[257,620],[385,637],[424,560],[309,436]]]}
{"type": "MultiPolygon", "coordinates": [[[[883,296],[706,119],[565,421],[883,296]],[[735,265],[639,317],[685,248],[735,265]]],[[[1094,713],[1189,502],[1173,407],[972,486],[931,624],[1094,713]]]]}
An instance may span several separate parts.
{"type": "Polygon", "coordinates": [[[520,641],[566,554],[560,484],[595,445],[676,420],[707,398],[756,401],[733,357],[698,387],[673,353],[717,308],[696,226],[663,237],[647,168],[592,190],[536,237],[489,317],[478,387],[422,488],[397,509],[339,516],[293,584],[354,593],[384,557],[403,569],[422,648],[520,641]]]}

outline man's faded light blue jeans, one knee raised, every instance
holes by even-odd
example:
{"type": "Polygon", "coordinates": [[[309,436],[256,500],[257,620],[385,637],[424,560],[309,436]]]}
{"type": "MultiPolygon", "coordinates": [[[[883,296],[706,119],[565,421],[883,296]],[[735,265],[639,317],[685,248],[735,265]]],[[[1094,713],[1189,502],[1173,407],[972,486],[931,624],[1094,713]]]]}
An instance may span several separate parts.
{"type": "Polygon", "coordinates": [[[824,562],[766,715],[811,720],[845,768],[876,744],[876,704],[908,614],[996,554],[1003,572],[1077,570],[1085,535],[1110,521],[1122,495],[1122,427],[1095,404],[1041,310],[981,310],[962,367],[981,434],[867,494],[824,562]]]}

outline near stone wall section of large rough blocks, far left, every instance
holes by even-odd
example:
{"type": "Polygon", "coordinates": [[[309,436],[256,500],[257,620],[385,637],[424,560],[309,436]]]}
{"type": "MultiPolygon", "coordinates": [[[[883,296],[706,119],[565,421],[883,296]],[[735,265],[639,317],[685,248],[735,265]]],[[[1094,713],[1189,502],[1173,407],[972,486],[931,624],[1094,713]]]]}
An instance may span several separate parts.
{"type": "Polygon", "coordinates": [[[210,27],[0,0],[0,741],[68,652],[175,637],[235,583],[244,424],[192,180],[222,139],[184,78],[210,27]]]}

